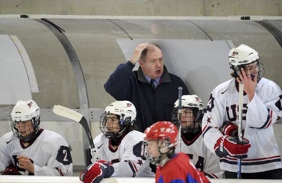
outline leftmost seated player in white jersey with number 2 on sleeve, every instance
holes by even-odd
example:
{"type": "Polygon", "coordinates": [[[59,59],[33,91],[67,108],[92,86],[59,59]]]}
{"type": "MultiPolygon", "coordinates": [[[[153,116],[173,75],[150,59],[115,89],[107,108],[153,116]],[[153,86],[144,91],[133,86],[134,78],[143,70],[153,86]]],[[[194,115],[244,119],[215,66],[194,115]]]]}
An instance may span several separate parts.
{"type": "Polygon", "coordinates": [[[40,108],[33,100],[18,101],[11,112],[12,131],[0,138],[3,175],[72,176],[72,158],[65,139],[39,127],[40,108]]]}

